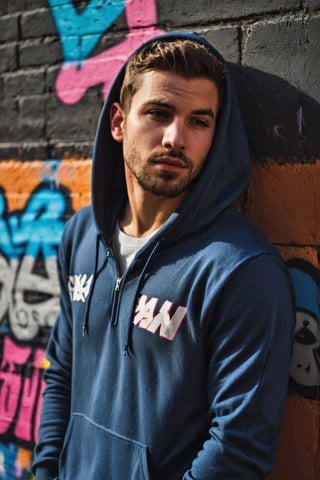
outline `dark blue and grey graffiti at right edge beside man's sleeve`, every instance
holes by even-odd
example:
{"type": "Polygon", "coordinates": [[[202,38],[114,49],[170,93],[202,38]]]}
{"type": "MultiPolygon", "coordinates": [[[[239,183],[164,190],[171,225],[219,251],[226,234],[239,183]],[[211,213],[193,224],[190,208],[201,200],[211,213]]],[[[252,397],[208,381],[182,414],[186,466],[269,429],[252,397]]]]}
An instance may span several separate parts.
{"type": "Polygon", "coordinates": [[[288,262],[296,295],[296,325],[290,371],[291,386],[320,398],[320,310],[318,271],[309,262],[288,262]]]}

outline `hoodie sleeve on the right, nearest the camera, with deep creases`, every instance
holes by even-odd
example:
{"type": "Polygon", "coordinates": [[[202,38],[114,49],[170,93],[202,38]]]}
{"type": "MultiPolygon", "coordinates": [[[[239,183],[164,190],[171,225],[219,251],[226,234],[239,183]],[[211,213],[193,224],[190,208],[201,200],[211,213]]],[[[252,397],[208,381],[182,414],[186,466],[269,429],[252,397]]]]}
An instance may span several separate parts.
{"type": "Polygon", "coordinates": [[[184,480],[262,480],[271,471],[287,393],[295,309],[284,267],[241,267],[208,333],[209,435],[184,480]]]}

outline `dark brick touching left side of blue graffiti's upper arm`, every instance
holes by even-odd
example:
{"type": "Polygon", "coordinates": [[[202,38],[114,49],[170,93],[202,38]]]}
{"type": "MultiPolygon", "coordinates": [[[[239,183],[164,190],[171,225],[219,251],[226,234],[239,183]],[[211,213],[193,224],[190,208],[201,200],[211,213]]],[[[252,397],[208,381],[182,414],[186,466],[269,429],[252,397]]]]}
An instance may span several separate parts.
{"type": "Polygon", "coordinates": [[[57,35],[55,24],[48,8],[22,14],[22,39],[36,38],[46,35],[57,35]]]}

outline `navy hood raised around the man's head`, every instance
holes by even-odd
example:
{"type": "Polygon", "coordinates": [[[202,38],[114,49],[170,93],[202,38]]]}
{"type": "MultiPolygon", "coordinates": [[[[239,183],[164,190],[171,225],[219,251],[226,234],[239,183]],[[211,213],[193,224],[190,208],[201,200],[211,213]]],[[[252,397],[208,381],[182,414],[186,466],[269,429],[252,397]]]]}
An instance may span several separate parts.
{"type": "MultiPolygon", "coordinates": [[[[244,192],[250,176],[250,155],[230,72],[219,52],[196,33],[166,33],[151,38],[188,38],[206,45],[225,64],[225,92],[216,133],[204,167],[188,195],[160,229],[166,242],[179,241],[212,224],[244,192]],[[164,231],[166,235],[164,235],[164,231]]],[[[119,211],[126,201],[122,145],[110,132],[109,110],[119,101],[125,65],[119,71],[104,103],[93,150],[92,205],[98,232],[111,239],[119,211]]]]}

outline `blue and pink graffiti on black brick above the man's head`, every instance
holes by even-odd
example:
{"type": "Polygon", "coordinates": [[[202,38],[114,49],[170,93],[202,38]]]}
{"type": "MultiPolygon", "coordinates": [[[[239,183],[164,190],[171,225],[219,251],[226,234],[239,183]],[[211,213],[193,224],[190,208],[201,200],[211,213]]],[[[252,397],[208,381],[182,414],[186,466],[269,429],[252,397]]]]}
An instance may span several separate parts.
{"type": "Polygon", "coordinates": [[[56,93],[65,104],[77,103],[94,85],[102,85],[104,98],[128,55],[154,35],[155,0],[91,0],[79,13],[71,0],[48,0],[62,44],[63,65],[56,78],[56,93]],[[120,43],[89,58],[112,22],[125,11],[128,33],[120,43]]]}

